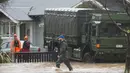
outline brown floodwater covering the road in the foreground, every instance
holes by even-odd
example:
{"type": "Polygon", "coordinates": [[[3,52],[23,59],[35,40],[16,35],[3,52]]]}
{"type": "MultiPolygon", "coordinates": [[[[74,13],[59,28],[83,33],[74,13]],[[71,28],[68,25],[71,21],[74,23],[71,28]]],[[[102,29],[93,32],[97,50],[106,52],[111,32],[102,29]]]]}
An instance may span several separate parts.
{"type": "Polygon", "coordinates": [[[74,68],[71,72],[64,64],[61,64],[60,71],[55,71],[54,62],[0,64],[0,73],[123,73],[125,68],[124,63],[71,64],[74,68]]]}

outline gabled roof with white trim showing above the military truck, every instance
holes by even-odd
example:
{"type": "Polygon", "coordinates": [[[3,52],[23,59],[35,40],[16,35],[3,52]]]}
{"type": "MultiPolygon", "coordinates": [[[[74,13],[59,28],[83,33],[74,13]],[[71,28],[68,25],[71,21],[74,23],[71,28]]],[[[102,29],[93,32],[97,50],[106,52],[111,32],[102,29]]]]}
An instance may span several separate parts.
{"type": "MultiPolygon", "coordinates": [[[[130,0],[126,0],[126,2],[130,3],[130,0]]],[[[106,10],[104,7],[105,4],[108,10],[124,11],[123,0],[84,0],[73,7],[89,7],[106,10]]]]}

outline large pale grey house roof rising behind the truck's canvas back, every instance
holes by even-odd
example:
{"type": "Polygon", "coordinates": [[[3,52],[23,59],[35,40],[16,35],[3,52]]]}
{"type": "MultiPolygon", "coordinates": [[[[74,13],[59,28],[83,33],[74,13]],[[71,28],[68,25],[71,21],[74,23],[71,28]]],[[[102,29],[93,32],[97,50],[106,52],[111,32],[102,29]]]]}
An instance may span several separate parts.
{"type": "Polygon", "coordinates": [[[81,0],[10,0],[10,7],[33,7],[29,15],[44,15],[45,8],[72,7],[81,0]]]}

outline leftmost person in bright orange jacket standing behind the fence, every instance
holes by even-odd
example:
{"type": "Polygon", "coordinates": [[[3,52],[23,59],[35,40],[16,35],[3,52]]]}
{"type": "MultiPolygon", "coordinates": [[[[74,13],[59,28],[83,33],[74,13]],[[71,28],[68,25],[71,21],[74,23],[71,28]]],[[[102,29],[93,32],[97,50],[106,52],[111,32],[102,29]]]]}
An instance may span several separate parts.
{"type": "Polygon", "coordinates": [[[21,51],[21,42],[18,39],[16,34],[14,34],[14,40],[11,41],[10,48],[11,48],[12,53],[16,53],[16,52],[21,51]]]}

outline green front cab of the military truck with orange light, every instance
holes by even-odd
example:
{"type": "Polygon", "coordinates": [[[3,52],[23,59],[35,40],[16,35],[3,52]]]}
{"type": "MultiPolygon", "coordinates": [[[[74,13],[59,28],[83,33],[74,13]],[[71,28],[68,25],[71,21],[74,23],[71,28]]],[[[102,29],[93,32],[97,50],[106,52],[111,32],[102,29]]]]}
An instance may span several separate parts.
{"type": "MultiPolygon", "coordinates": [[[[111,18],[108,14],[93,15],[91,23],[88,25],[89,35],[85,38],[89,40],[83,43],[84,37],[82,37],[82,44],[86,48],[82,49],[82,60],[91,62],[92,60],[106,60],[106,61],[125,61],[127,39],[126,34],[122,32],[113,21],[123,30],[128,29],[129,17],[126,14],[111,14],[111,18]],[[126,17],[126,18],[123,18],[126,17]],[[96,19],[98,18],[98,19],[96,19]],[[123,19],[122,19],[123,18],[123,19]]],[[[85,36],[82,34],[82,36],[85,36]]],[[[81,52],[82,52],[81,51],[81,52]]]]}

